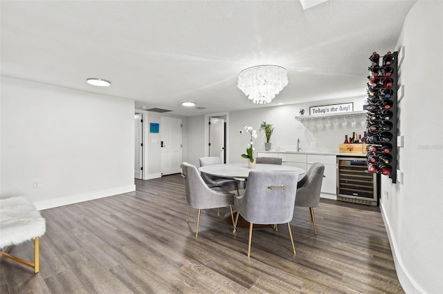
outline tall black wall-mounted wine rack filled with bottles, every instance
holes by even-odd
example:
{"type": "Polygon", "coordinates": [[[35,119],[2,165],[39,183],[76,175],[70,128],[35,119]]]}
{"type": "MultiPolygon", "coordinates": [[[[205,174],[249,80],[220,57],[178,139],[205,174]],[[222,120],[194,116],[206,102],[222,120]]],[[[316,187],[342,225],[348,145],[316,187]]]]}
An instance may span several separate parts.
{"type": "Polygon", "coordinates": [[[397,182],[398,52],[369,57],[368,76],[368,171],[388,175],[397,182]]]}

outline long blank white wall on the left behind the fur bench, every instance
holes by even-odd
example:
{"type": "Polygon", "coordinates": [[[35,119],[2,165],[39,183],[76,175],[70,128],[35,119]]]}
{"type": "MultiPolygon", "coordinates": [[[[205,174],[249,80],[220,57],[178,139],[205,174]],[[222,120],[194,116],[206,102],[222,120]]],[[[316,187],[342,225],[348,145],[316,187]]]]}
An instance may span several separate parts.
{"type": "Polygon", "coordinates": [[[1,77],[0,197],[45,209],[133,190],[134,101],[1,77]]]}

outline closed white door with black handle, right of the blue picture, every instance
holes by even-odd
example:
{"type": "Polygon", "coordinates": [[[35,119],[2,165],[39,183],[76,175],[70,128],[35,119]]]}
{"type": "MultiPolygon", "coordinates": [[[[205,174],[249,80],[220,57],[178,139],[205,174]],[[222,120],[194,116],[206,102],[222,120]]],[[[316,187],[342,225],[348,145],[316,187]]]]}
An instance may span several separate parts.
{"type": "Polygon", "coordinates": [[[161,174],[181,173],[181,119],[160,117],[161,174]]]}

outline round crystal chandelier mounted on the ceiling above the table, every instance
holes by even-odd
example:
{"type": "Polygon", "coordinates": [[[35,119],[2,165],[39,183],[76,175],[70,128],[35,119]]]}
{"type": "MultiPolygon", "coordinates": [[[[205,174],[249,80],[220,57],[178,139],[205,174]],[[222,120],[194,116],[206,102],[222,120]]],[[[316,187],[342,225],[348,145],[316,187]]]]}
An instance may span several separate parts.
{"type": "Polygon", "coordinates": [[[281,66],[253,66],[238,75],[238,88],[255,104],[271,102],[288,84],[287,70],[281,66]]]}

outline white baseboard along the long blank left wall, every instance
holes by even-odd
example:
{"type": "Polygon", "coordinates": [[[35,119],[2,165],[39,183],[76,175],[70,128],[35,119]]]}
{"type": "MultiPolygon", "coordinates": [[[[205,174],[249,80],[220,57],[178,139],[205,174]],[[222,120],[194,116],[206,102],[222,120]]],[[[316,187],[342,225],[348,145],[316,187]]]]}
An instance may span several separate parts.
{"type": "Polygon", "coordinates": [[[48,208],[54,208],[54,207],[59,207],[59,206],[64,206],[64,205],[69,205],[69,204],[75,204],[75,203],[79,203],[79,202],[85,202],[85,201],[89,201],[89,200],[93,200],[93,199],[99,199],[99,198],[103,198],[103,197],[134,192],[135,190],[136,190],[136,185],[128,185],[128,186],[122,186],[122,187],[118,187],[118,188],[111,188],[111,189],[107,189],[107,190],[94,191],[91,193],[76,194],[76,195],[70,195],[70,196],[66,196],[66,197],[58,197],[58,198],[40,200],[40,201],[34,202],[34,205],[35,205],[35,208],[37,208],[37,210],[44,210],[44,209],[48,209],[48,208]]]}

